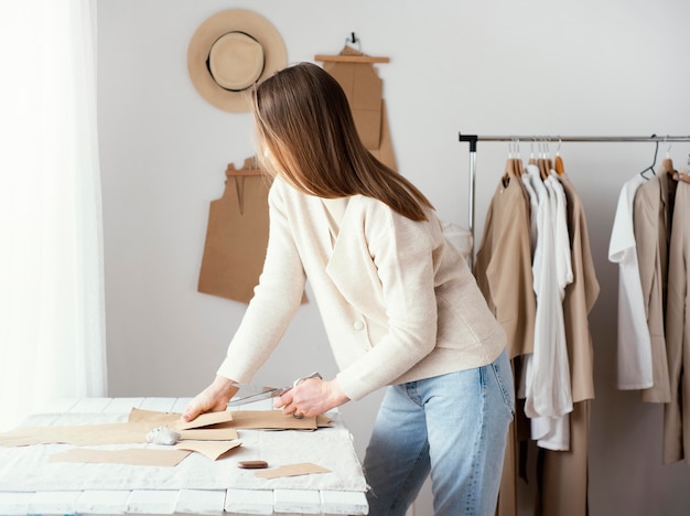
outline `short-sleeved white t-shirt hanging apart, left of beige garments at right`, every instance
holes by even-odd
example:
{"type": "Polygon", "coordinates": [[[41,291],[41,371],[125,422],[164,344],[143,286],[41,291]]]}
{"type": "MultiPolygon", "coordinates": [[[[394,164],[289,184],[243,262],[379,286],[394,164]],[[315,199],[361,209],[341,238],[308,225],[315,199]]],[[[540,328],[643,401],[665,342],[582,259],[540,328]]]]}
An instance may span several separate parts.
{"type": "Polygon", "coordinates": [[[633,224],[635,194],[646,182],[636,174],[621,189],[608,243],[608,260],[618,264],[618,389],[647,389],[654,385],[651,338],[647,326],[645,301],[633,224]]]}

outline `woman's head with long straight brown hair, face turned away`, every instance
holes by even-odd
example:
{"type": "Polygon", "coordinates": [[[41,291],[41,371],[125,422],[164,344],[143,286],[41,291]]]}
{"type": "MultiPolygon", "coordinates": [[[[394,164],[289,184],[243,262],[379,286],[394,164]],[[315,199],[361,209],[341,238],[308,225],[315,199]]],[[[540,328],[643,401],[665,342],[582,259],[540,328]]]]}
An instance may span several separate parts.
{"type": "Polygon", "coordinates": [[[276,73],[255,89],[258,159],[271,175],[319,197],[365,195],[412,221],[429,200],[364,147],[341,85],[312,63],[276,73]]]}

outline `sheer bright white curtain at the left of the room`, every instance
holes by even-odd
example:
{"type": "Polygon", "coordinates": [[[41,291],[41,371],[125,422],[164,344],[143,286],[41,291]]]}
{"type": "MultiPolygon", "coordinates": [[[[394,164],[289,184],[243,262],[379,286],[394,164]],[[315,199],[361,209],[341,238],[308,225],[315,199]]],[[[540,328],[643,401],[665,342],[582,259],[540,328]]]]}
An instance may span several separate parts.
{"type": "Polygon", "coordinates": [[[94,9],[0,2],[0,430],[106,395],[94,9]]]}

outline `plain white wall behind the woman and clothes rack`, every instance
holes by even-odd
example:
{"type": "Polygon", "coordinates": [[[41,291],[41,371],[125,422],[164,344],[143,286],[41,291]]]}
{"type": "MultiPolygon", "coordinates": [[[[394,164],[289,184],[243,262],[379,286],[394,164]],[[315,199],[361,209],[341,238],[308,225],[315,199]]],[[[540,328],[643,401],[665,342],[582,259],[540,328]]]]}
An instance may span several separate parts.
{"type": "MultiPolygon", "coordinates": [[[[111,396],[193,396],[215,373],[241,303],[196,292],[208,203],[228,162],[252,153],[249,115],[207,104],[186,73],[191,35],[211,14],[248,8],[282,34],[290,62],[338,53],[355,32],[378,65],[401,173],[442,218],[467,224],[467,146],[479,135],[690,133],[686,0],[97,0],[98,99],[111,396]]],[[[668,146],[662,144],[660,158],[668,146]]],[[[476,238],[507,155],[479,143],[476,238]]],[[[522,157],[530,146],[522,142],[522,157]]],[[[552,151],[554,146],[552,146],[552,151]]],[[[690,144],[670,149],[686,162],[690,144]]],[[[617,271],[606,259],[622,184],[654,144],[563,143],[585,205],[601,295],[591,315],[596,400],[594,516],[676,515],[690,469],[660,465],[661,407],[614,388],[617,271]]],[[[316,308],[300,309],[257,380],[335,373],[316,308]]],[[[364,451],[380,394],[344,408],[364,451]]],[[[431,514],[428,495],[418,516],[431,514]]]]}

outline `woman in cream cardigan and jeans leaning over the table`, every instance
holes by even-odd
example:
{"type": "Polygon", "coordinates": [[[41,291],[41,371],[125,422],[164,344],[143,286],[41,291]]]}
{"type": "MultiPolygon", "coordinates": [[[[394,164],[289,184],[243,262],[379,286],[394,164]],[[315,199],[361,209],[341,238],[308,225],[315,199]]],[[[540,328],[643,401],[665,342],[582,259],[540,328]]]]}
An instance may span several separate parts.
{"type": "Polygon", "coordinates": [[[261,83],[269,194],[259,284],[213,384],[183,418],[224,410],[278,344],[309,278],[339,373],[277,399],[315,416],[389,386],[364,461],[369,514],[403,515],[431,473],[436,515],[493,515],[513,377],[505,334],[431,203],[360,142],[345,94],[302,63],[261,83]]]}

